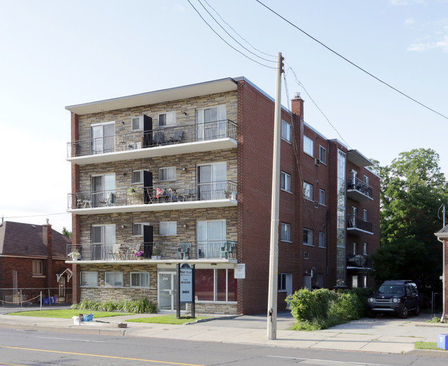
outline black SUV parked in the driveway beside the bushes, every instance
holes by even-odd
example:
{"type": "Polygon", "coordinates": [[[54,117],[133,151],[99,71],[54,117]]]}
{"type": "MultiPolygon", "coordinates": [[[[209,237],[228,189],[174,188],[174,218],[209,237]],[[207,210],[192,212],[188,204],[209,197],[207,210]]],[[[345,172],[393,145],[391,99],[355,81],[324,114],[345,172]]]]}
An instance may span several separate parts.
{"type": "Polygon", "coordinates": [[[420,299],[415,283],[410,280],[384,281],[367,301],[367,314],[374,318],[378,312],[395,312],[406,319],[409,312],[420,314],[420,299]]]}

